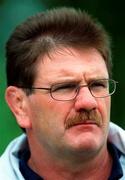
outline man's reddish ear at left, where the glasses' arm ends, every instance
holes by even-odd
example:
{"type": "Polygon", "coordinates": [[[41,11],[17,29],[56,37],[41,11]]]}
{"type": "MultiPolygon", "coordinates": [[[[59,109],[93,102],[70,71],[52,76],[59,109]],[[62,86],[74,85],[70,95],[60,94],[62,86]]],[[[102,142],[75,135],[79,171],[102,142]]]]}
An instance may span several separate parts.
{"type": "Polygon", "coordinates": [[[31,128],[28,97],[23,90],[9,86],[6,89],[5,99],[11,111],[16,117],[17,123],[22,128],[31,128]]]}

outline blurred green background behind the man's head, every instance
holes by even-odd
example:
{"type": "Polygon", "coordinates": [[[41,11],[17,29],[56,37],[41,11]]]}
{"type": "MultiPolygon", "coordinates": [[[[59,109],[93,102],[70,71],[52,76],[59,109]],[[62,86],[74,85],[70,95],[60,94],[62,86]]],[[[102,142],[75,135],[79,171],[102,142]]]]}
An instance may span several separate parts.
{"type": "Polygon", "coordinates": [[[48,8],[71,6],[96,17],[112,37],[113,78],[119,82],[112,96],[111,121],[125,128],[125,4],[124,0],[0,0],[0,154],[21,132],[4,100],[5,43],[25,18],[48,8]]]}

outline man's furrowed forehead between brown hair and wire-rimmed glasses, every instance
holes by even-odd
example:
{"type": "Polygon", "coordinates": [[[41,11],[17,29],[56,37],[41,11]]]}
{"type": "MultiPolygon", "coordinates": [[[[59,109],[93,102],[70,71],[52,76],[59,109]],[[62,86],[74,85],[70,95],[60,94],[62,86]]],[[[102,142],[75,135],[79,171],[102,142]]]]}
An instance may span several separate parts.
{"type": "Polygon", "coordinates": [[[61,49],[39,60],[36,78],[54,81],[73,77],[108,78],[105,61],[95,49],[61,49]]]}

